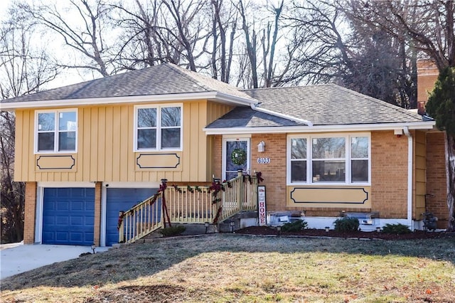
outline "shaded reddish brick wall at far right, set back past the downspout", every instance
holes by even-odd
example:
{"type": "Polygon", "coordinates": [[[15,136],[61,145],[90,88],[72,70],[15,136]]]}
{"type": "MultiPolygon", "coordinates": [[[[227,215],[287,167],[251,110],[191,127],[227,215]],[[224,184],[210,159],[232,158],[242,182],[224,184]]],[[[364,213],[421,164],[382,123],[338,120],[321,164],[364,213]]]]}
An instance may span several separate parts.
{"type": "Polygon", "coordinates": [[[427,133],[427,211],[438,217],[438,228],[446,228],[447,208],[446,157],[444,132],[427,133]]]}

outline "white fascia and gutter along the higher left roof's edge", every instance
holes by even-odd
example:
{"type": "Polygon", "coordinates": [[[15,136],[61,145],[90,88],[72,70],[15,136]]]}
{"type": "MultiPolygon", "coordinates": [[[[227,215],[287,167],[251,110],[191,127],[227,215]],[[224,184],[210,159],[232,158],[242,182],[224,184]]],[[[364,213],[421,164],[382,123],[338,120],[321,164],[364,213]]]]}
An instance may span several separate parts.
{"type": "Polygon", "coordinates": [[[85,99],[65,99],[65,100],[45,100],[45,101],[24,101],[24,102],[4,102],[0,104],[1,110],[12,111],[25,108],[46,108],[46,107],[75,107],[80,105],[110,105],[121,103],[152,103],[168,102],[183,100],[215,100],[226,102],[233,105],[250,106],[254,100],[244,99],[219,92],[190,92],[184,94],[166,94],[166,95],[141,95],[141,96],[124,96],[124,97],[100,97],[85,99]]]}

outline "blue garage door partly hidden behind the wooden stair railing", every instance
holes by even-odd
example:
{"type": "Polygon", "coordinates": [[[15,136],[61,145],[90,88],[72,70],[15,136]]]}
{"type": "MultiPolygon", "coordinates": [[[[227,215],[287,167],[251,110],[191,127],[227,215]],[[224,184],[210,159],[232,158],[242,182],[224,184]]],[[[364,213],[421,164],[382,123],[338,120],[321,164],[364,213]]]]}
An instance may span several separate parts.
{"type": "Polygon", "coordinates": [[[119,212],[128,211],[137,203],[153,196],[156,191],[158,188],[107,188],[106,246],[119,243],[119,212]]]}

